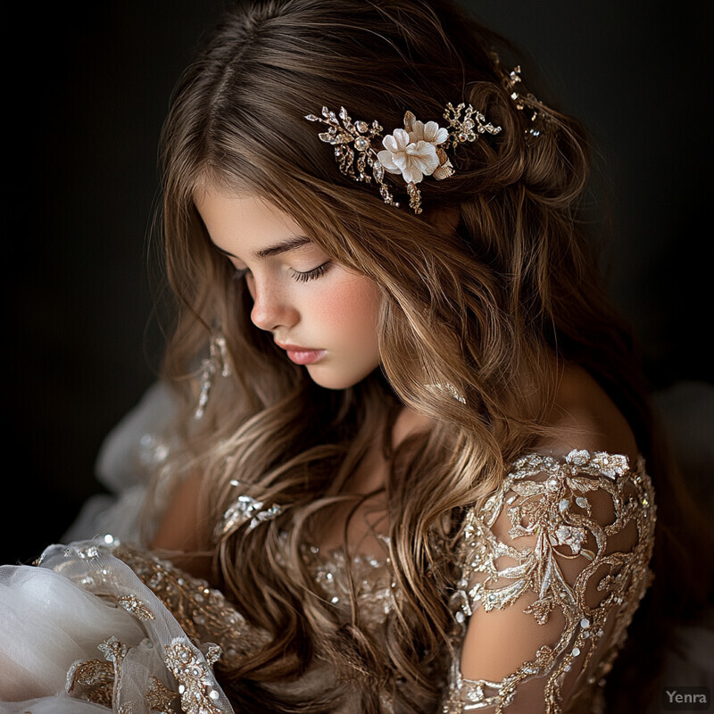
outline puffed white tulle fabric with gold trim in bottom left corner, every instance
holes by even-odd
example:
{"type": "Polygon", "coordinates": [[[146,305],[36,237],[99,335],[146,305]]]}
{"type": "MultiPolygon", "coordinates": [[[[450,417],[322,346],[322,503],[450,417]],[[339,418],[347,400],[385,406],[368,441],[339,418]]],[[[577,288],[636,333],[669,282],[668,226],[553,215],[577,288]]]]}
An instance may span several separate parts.
{"type": "MultiPolygon", "coordinates": [[[[50,546],[37,568],[3,566],[0,602],[0,711],[106,714],[96,697],[78,698],[81,667],[111,670],[106,695],[116,712],[150,714],[146,694],[180,696],[177,681],[195,702],[182,701],[182,710],[233,711],[213,678],[210,658],[101,543],[50,546]],[[184,648],[197,677],[171,666],[177,647],[184,648]]],[[[91,684],[91,677],[84,681],[91,684]]]]}

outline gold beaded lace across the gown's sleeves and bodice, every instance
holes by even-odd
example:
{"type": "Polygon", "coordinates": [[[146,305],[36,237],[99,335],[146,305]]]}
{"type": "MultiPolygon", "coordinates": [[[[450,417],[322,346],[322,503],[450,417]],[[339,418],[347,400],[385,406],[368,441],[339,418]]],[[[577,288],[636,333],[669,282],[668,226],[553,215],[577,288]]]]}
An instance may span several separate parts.
{"type": "MultiPolygon", "coordinates": [[[[462,659],[435,675],[443,683],[443,714],[599,711],[604,677],[651,582],[654,525],[652,482],[642,460],[630,465],[624,456],[575,451],[562,459],[532,454],[514,463],[484,505],[466,513],[454,552],[460,577],[450,594],[452,647],[462,659]]],[[[108,550],[149,588],[141,598],[117,592],[114,602],[148,630],[158,627],[156,610],[165,606],[184,635],[164,646],[173,680],[151,680],[145,710],[170,712],[180,703],[188,714],[225,711],[212,684],[213,662],[217,672],[229,671],[268,635],[251,627],[220,592],[169,562],[121,544],[108,550]]],[[[81,553],[88,568],[95,554],[91,548],[81,553]]],[[[347,559],[316,548],[306,549],[305,557],[345,619],[352,571],[357,606],[378,632],[394,608],[389,561],[347,559]]],[[[103,561],[102,574],[85,573],[83,585],[108,597],[111,570],[103,561]]],[[[102,646],[106,661],[75,663],[68,691],[106,704],[118,696],[122,662],[133,645],[108,639],[102,646]]],[[[300,681],[273,686],[307,696],[334,677],[327,660],[317,658],[300,681]]],[[[356,711],[353,706],[345,702],[339,711],[356,711]]]]}

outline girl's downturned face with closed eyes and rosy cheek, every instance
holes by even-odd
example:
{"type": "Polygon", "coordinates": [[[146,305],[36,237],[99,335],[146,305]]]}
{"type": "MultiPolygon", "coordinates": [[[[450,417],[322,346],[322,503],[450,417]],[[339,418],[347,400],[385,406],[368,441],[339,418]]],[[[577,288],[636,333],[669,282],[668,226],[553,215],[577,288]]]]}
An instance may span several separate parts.
{"type": "Polygon", "coordinates": [[[345,389],[379,363],[378,287],[330,260],[286,213],[253,195],[209,187],[195,205],[213,244],[245,279],[253,324],[286,359],[328,389],[345,389]]]}

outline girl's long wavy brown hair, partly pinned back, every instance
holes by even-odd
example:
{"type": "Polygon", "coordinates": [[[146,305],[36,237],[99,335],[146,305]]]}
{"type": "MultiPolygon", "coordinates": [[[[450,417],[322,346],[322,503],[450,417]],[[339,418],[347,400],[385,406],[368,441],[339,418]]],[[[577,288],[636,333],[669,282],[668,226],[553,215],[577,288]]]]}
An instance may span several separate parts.
{"type": "MultiPolygon", "coordinates": [[[[299,675],[316,654],[339,676],[311,711],[330,710],[347,689],[365,712],[380,710],[380,692],[407,710],[433,707],[439,692],[425,672],[441,666],[448,647],[458,516],[547,433],[562,364],[597,379],[635,430],[658,490],[678,493],[652,443],[631,336],[585,237],[585,130],[549,105],[541,135],[529,134],[530,117],[511,100],[494,50],[511,51],[450,0],[252,0],[229,4],[179,82],[162,136],[163,231],[179,298],[165,373],[188,413],[207,337],[216,328],[226,337],[233,377],[215,380],[183,458],[203,474],[204,544],[215,553],[217,582],[273,635],[240,668],[220,672],[245,710],[301,710],[263,684],[299,675]],[[419,185],[419,216],[340,174],[304,119],[344,106],[354,120],[393,128],[406,110],[439,120],[449,102],[472,104],[502,131],[457,149],[452,178],[419,185]],[[206,186],[261,196],[330,258],[376,283],[380,369],[329,391],[286,361],[253,326],[245,283],[195,210],[206,186]],[[433,385],[451,385],[464,400],[433,385]],[[392,452],[388,435],[403,405],[433,428],[392,452]],[[364,498],[344,486],[379,433],[390,464],[389,556],[403,594],[386,649],[357,608],[347,625],[337,617],[301,558],[315,519],[336,502],[356,509],[364,498]],[[282,511],[259,527],[214,535],[235,480],[282,511]]],[[[666,517],[677,501],[666,500],[655,569],[674,543],[666,517]]]]}

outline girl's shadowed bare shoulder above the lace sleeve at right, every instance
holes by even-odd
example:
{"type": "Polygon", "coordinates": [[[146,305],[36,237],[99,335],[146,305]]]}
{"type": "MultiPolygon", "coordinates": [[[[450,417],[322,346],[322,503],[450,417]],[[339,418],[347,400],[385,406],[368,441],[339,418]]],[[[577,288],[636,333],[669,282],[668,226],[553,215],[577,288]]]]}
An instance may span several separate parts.
{"type": "Polygon", "coordinates": [[[560,374],[549,425],[558,436],[548,444],[553,451],[585,449],[622,453],[634,459],[635,435],[617,405],[588,372],[567,365],[560,374]]]}

